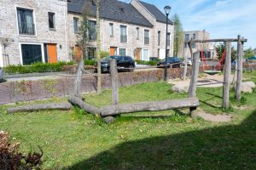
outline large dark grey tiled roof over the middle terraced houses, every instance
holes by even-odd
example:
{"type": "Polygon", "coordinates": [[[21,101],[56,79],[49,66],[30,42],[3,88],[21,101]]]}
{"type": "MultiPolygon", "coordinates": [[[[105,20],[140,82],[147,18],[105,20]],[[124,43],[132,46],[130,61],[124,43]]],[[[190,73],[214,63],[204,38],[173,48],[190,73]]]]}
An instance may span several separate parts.
{"type": "MultiPolygon", "coordinates": [[[[84,4],[88,0],[73,0],[67,3],[67,11],[82,13],[84,4]]],[[[91,5],[90,15],[96,16],[96,6],[91,5]]],[[[100,15],[104,19],[117,20],[139,26],[153,27],[153,25],[140,14],[130,3],[123,3],[117,0],[104,0],[100,8],[100,15]]]]}

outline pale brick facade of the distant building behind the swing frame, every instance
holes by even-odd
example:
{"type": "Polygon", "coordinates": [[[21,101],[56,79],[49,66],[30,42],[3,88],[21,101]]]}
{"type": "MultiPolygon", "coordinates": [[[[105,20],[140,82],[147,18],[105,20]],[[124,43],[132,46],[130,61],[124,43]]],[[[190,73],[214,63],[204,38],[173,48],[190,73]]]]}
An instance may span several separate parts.
{"type": "MultiPolygon", "coordinates": [[[[189,41],[192,39],[197,40],[208,40],[210,38],[210,33],[203,30],[203,31],[184,31],[184,40],[189,41]]],[[[193,43],[192,45],[193,54],[197,51],[207,51],[209,58],[214,58],[216,56],[214,52],[214,45],[213,43],[193,43]]],[[[207,54],[206,54],[207,55],[207,54]]],[[[191,57],[189,46],[184,44],[183,46],[183,56],[187,56],[187,58],[191,57]]],[[[207,57],[207,56],[206,56],[207,57]]]]}

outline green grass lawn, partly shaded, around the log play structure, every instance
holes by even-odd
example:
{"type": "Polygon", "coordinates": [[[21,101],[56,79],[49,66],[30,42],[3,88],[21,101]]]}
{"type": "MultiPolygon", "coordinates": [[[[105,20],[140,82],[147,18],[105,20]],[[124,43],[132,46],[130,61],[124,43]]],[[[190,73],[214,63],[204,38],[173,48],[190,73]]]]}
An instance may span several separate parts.
{"type": "MultiPolygon", "coordinates": [[[[256,71],[245,73],[256,82],[256,71]]],[[[120,103],[177,99],[166,82],[149,82],[120,88],[120,103]]],[[[0,106],[0,131],[20,142],[20,150],[44,150],[44,169],[256,169],[256,90],[236,103],[230,91],[230,109],[221,106],[222,88],[199,88],[199,109],[230,114],[232,122],[191,120],[188,110],[142,112],[102,119],[72,111],[6,114],[0,106]]],[[[111,92],[84,95],[87,102],[110,104],[111,92]]],[[[44,102],[65,99],[49,99],[44,102]]],[[[36,102],[37,103],[37,102],[36,102]]],[[[40,101],[42,103],[42,101],[40,101]]],[[[24,105],[24,104],[16,104],[24,105]]]]}

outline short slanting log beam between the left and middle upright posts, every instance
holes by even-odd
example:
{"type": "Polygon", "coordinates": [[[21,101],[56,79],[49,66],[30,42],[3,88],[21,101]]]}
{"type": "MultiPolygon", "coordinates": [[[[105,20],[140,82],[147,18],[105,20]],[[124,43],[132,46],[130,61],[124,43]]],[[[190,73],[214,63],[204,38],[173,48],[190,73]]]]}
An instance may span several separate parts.
{"type": "Polygon", "coordinates": [[[75,96],[69,96],[68,101],[72,103],[73,105],[78,105],[81,109],[84,111],[87,111],[93,115],[99,115],[100,109],[96,108],[94,105],[90,105],[85,103],[82,99],[75,97],[75,96]]]}

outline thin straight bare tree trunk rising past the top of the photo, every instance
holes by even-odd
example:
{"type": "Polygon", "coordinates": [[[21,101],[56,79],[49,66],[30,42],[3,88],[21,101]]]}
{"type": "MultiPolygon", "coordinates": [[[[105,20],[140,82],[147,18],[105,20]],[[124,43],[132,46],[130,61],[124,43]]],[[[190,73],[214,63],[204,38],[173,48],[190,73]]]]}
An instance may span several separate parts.
{"type": "Polygon", "coordinates": [[[100,0],[96,0],[96,58],[97,58],[97,94],[102,93],[102,69],[101,69],[101,28],[100,28],[100,0]]]}

